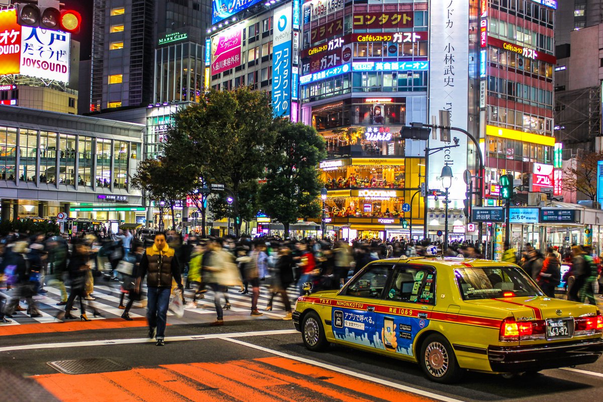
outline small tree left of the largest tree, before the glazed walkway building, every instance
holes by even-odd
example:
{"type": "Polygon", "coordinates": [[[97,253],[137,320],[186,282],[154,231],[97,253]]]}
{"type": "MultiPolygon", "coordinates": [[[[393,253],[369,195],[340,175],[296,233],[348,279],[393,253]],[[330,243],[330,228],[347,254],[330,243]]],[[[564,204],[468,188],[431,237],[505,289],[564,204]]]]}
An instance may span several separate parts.
{"type": "Polygon", "coordinates": [[[136,173],[130,177],[132,186],[144,192],[145,198],[153,201],[159,209],[159,227],[162,228],[163,216],[169,209],[172,215],[172,229],[175,230],[174,208],[178,200],[185,195],[185,183],[182,170],[172,165],[167,157],[147,159],[140,162],[136,173]]]}

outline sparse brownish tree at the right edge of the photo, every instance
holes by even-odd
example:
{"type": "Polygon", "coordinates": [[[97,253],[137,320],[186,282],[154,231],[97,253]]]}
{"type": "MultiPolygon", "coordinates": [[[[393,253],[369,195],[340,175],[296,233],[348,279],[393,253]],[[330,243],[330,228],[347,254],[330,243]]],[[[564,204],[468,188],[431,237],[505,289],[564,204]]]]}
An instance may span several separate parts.
{"type": "Polygon", "coordinates": [[[563,171],[562,188],[581,192],[593,203],[597,198],[597,162],[603,160],[603,152],[581,152],[563,171]]]}

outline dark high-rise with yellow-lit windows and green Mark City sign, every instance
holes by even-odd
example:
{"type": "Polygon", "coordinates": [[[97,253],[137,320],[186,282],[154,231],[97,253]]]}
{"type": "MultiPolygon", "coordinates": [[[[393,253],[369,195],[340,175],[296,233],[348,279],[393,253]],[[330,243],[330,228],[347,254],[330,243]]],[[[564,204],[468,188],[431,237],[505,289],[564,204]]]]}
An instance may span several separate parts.
{"type": "Polygon", "coordinates": [[[95,0],[90,111],[198,96],[209,8],[207,0],[95,0]]]}

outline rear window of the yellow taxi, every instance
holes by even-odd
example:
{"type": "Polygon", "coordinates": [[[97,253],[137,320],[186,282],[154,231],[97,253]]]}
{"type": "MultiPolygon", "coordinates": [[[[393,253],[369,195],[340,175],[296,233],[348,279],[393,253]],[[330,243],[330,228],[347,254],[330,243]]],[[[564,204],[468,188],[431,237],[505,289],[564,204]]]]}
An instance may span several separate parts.
{"type": "Polygon", "coordinates": [[[455,277],[463,300],[543,296],[519,267],[458,268],[455,277]]]}

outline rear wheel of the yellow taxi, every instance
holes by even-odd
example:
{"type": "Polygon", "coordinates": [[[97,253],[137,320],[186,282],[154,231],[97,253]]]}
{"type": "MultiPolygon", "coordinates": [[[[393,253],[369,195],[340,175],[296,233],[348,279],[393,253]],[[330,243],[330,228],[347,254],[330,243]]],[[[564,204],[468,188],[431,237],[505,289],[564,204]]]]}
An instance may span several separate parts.
{"type": "Polygon", "coordinates": [[[429,335],[421,344],[419,363],[427,377],[435,382],[450,384],[463,377],[464,370],[456,362],[450,343],[440,334],[429,335]]]}

